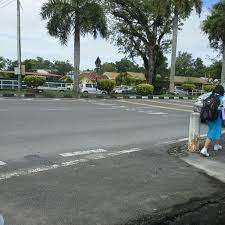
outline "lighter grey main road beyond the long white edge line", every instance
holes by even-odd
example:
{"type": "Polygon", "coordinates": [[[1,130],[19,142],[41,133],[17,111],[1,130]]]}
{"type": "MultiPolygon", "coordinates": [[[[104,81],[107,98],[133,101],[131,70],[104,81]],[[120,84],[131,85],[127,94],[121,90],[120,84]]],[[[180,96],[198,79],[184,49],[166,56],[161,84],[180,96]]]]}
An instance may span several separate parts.
{"type": "Polygon", "coordinates": [[[179,105],[122,100],[2,100],[1,160],[96,148],[126,149],[184,138],[192,104],[179,105]]]}

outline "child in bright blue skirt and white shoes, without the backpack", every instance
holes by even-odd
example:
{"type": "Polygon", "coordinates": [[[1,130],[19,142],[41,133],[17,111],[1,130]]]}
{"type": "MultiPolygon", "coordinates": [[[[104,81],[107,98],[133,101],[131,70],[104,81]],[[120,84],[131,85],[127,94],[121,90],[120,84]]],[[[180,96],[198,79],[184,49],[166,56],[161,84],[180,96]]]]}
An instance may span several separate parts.
{"type": "Polygon", "coordinates": [[[208,122],[208,134],[207,139],[205,141],[204,148],[201,150],[201,154],[209,157],[208,148],[211,142],[214,142],[214,151],[219,151],[222,149],[222,146],[219,144],[222,138],[222,111],[221,108],[223,107],[224,102],[224,88],[222,85],[217,85],[215,89],[213,90],[213,94],[218,95],[220,98],[220,106],[218,108],[219,110],[219,116],[216,120],[209,121],[208,122]]]}

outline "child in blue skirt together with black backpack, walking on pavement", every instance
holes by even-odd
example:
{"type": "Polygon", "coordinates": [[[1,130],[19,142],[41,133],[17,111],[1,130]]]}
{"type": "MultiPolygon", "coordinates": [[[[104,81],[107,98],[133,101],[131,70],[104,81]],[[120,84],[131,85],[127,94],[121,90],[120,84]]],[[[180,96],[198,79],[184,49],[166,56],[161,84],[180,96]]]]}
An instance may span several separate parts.
{"type": "Polygon", "coordinates": [[[224,102],[224,88],[222,85],[217,85],[212,94],[203,102],[201,111],[201,120],[208,123],[207,139],[204,148],[200,151],[203,156],[209,157],[208,147],[211,142],[214,142],[214,151],[222,149],[219,144],[222,137],[222,111],[224,102]]]}

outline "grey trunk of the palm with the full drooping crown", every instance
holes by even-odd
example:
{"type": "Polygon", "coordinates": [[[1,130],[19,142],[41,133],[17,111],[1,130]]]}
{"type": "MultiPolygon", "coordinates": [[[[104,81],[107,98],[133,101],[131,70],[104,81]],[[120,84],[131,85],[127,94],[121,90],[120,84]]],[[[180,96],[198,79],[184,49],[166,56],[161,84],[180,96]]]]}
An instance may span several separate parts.
{"type": "Polygon", "coordinates": [[[80,28],[76,25],[74,32],[74,90],[79,91],[80,71],[80,28]]]}

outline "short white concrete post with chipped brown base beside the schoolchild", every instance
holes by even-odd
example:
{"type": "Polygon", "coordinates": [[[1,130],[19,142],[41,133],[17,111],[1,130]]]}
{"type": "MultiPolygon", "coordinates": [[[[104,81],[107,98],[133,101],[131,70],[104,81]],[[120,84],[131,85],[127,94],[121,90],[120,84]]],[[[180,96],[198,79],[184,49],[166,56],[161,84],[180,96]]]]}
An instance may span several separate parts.
{"type": "Polygon", "coordinates": [[[189,152],[197,152],[199,150],[200,138],[200,113],[191,113],[189,124],[189,152]]]}

